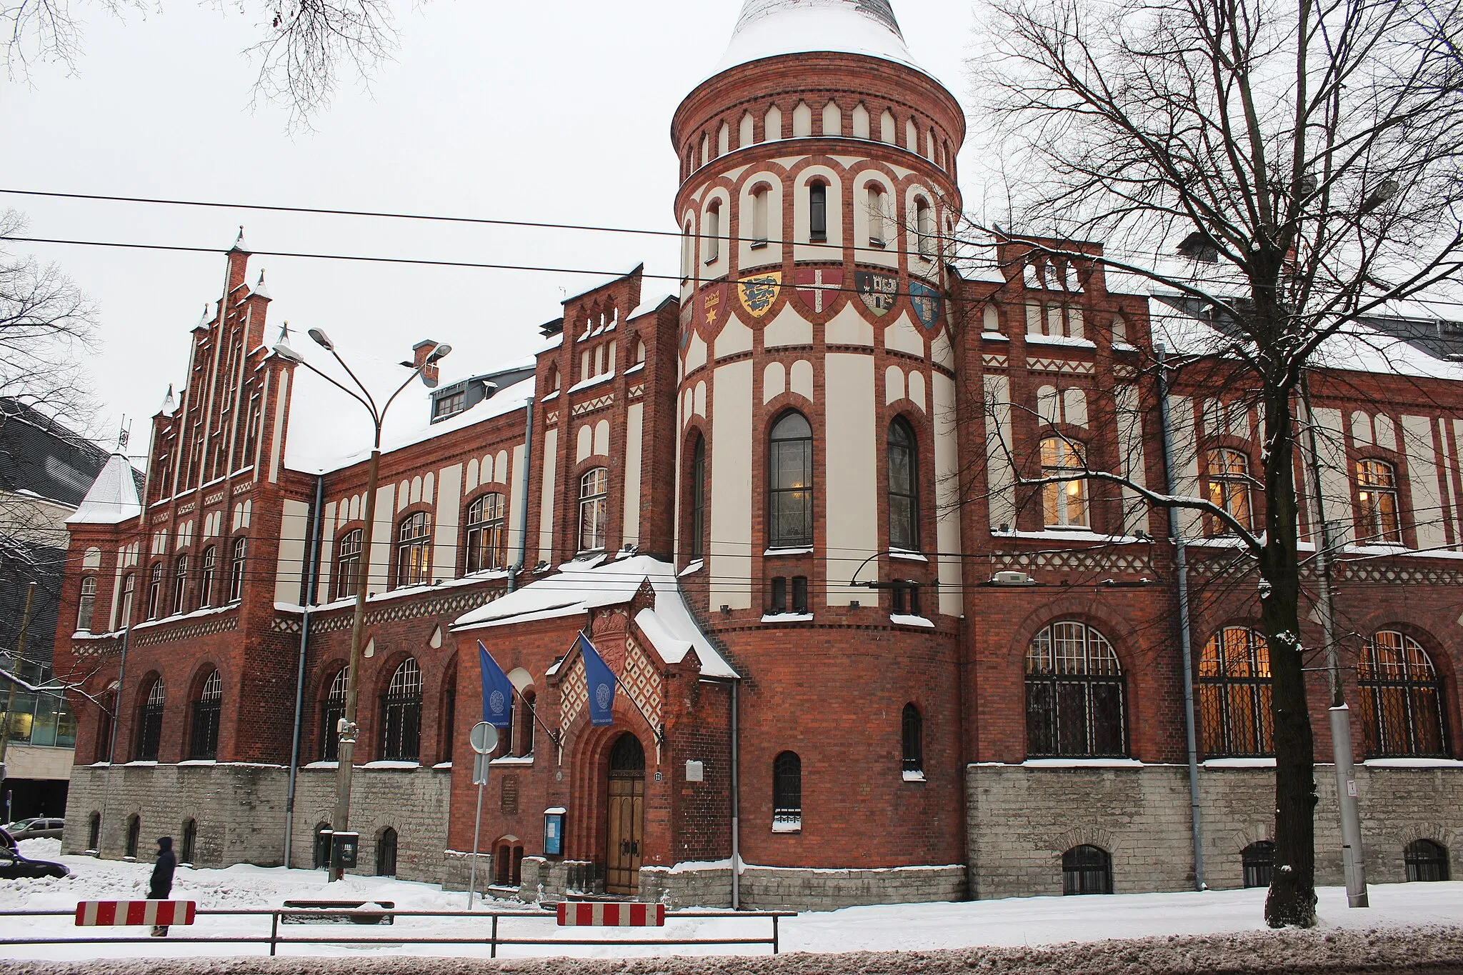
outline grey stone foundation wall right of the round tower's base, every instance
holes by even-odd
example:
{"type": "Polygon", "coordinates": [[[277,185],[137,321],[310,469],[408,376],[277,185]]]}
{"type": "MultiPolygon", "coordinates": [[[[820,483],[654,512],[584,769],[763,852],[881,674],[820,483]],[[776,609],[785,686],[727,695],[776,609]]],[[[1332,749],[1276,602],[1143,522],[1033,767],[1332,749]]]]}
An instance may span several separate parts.
{"type": "MultiPolygon", "coordinates": [[[[1340,884],[1336,773],[1317,766],[1317,881],[1340,884]]],[[[1432,839],[1463,868],[1463,766],[1358,766],[1362,845],[1371,883],[1406,879],[1403,848],[1432,839]]],[[[1274,769],[1201,767],[1204,880],[1244,886],[1241,851],[1271,839],[1274,769]]],[[[967,769],[970,886],[983,899],[1062,893],[1062,854],[1090,843],[1112,855],[1113,890],[1194,886],[1188,769],[1184,766],[967,769]]]]}

